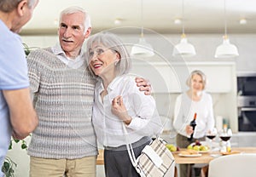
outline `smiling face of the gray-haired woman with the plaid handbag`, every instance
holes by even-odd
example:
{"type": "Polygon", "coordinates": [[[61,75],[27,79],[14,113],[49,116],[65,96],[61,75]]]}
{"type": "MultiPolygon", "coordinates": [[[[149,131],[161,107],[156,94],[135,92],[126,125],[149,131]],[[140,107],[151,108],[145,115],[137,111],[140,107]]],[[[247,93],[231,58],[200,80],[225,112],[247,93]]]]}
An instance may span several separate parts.
{"type": "Polygon", "coordinates": [[[90,68],[99,77],[115,77],[115,63],[119,61],[119,54],[102,44],[95,43],[89,49],[90,68]]]}

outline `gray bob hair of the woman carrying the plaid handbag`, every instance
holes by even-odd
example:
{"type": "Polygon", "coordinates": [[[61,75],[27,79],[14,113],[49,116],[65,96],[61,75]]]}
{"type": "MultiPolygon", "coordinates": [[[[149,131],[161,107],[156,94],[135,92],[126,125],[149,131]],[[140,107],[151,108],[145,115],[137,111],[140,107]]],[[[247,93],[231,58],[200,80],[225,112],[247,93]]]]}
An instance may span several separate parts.
{"type": "MultiPolygon", "coordinates": [[[[115,66],[117,75],[127,74],[131,70],[131,58],[130,54],[125,48],[125,44],[122,43],[117,35],[110,32],[99,32],[88,39],[85,52],[85,58],[87,60],[88,66],[90,63],[89,50],[92,49],[92,46],[95,43],[101,43],[104,47],[111,49],[120,55],[120,60],[115,66]]],[[[91,73],[96,77],[93,71],[91,71],[91,73]]]]}

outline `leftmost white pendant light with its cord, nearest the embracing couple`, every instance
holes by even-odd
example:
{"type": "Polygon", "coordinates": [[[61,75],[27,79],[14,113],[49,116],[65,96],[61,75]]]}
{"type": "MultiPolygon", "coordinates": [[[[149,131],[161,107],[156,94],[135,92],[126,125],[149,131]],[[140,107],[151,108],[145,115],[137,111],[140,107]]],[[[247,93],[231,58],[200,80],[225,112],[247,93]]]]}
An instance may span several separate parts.
{"type": "MultiPolygon", "coordinates": [[[[143,0],[141,2],[141,23],[143,24],[143,0]]],[[[139,42],[137,44],[134,44],[131,48],[132,56],[150,57],[154,55],[154,49],[152,48],[150,43],[146,42],[143,30],[144,29],[142,25],[141,37],[139,38],[139,42]]]]}

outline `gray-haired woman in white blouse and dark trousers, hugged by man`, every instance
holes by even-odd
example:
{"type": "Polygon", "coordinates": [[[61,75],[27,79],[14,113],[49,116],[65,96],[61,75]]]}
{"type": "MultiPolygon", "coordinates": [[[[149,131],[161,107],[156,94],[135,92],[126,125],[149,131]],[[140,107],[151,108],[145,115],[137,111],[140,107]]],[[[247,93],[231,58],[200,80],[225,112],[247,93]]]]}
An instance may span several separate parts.
{"type": "Polygon", "coordinates": [[[105,149],[106,176],[139,176],[126,144],[131,143],[137,157],[151,136],[160,133],[154,99],[139,91],[134,79],[127,75],[131,59],[119,37],[98,33],[88,40],[86,53],[90,71],[98,80],[92,123],[105,149]]]}

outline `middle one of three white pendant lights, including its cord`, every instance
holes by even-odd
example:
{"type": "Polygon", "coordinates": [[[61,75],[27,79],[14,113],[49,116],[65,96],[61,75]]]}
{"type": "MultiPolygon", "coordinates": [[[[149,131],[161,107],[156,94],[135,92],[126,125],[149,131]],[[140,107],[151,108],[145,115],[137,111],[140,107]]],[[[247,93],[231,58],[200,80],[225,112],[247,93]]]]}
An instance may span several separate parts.
{"type": "Polygon", "coordinates": [[[185,35],[185,27],[184,27],[184,0],[182,4],[182,15],[183,15],[183,34],[181,35],[180,43],[174,46],[172,55],[173,56],[182,56],[182,57],[190,57],[195,55],[195,47],[188,42],[188,39],[185,35]]]}

